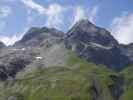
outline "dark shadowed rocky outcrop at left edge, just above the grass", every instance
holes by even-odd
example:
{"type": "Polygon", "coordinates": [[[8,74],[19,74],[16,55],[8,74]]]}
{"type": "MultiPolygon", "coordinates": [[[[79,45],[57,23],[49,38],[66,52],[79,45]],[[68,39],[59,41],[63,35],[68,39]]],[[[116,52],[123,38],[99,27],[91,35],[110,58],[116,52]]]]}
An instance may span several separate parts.
{"type": "Polygon", "coordinates": [[[15,78],[17,72],[23,70],[33,61],[33,54],[30,52],[12,52],[0,55],[0,80],[15,78]]]}

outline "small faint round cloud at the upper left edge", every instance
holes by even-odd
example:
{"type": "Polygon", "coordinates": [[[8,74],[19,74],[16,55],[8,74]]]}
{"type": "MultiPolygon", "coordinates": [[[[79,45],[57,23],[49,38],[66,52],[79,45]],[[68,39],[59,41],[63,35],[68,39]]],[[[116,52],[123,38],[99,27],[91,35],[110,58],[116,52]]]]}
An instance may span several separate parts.
{"type": "Polygon", "coordinates": [[[0,7],[0,18],[5,18],[11,14],[12,10],[8,6],[0,7]]]}

